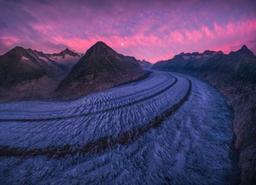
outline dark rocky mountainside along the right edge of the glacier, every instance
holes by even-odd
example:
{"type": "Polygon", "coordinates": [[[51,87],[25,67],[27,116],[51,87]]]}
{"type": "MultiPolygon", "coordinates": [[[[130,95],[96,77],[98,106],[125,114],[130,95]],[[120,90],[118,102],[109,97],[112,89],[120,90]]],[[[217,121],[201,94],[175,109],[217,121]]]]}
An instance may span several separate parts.
{"type": "Polygon", "coordinates": [[[208,54],[182,53],[168,61],[159,61],[152,68],[198,76],[200,79],[208,80],[228,97],[227,104],[235,111],[233,124],[236,134],[235,148],[239,149],[238,166],[241,171],[241,184],[254,184],[256,182],[256,56],[245,45],[227,55],[221,51],[207,52],[208,54]]]}

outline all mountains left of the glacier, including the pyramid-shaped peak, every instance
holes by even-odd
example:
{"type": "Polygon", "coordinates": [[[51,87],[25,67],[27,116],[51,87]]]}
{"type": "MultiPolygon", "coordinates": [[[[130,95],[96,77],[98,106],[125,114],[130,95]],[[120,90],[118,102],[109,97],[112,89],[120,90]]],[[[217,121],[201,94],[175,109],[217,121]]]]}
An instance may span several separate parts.
{"type": "Polygon", "coordinates": [[[15,47],[0,56],[0,102],[39,98],[76,99],[146,77],[133,57],[99,41],[85,55],[15,47]]]}

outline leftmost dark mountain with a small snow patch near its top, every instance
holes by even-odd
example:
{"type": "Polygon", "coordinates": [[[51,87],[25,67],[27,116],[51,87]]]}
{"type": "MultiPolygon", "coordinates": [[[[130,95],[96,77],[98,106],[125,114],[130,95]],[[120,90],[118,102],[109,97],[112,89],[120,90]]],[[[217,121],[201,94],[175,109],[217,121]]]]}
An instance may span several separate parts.
{"type": "Polygon", "coordinates": [[[0,56],[0,102],[46,96],[56,87],[47,68],[31,49],[16,47],[0,56]]]}

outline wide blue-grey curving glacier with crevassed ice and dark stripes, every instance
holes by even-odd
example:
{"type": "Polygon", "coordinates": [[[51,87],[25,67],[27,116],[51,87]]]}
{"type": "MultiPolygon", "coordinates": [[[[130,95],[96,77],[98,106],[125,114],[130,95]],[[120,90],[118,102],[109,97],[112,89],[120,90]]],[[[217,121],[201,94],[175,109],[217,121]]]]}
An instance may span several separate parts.
{"type": "Polygon", "coordinates": [[[75,101],[0,104],[0,183],[239,183],[225,101],[201,80],[152,70],[75,101]]]}

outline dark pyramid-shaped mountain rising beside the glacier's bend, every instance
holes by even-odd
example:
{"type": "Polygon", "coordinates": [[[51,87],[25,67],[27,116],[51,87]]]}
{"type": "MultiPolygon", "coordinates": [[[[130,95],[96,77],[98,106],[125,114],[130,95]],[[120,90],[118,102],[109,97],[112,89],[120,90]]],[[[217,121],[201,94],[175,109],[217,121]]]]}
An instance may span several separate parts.
{"type": "Polygon", "coordinates": [[[136,59],[118,54],[99,41],[87,50],[50,97],[79,98],[143,78],[147,74],[136,59]]]}

